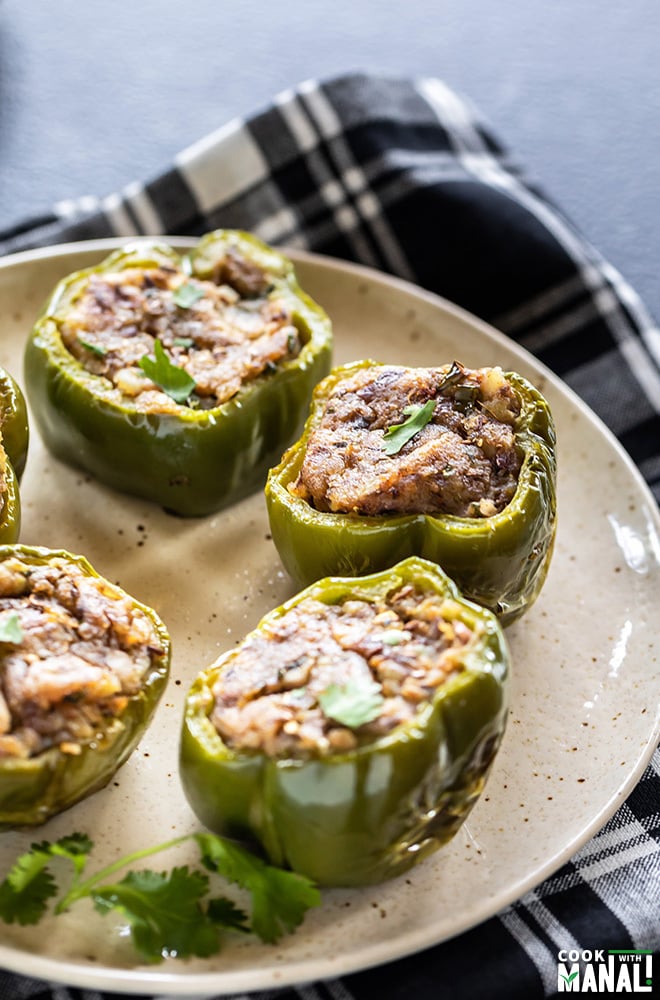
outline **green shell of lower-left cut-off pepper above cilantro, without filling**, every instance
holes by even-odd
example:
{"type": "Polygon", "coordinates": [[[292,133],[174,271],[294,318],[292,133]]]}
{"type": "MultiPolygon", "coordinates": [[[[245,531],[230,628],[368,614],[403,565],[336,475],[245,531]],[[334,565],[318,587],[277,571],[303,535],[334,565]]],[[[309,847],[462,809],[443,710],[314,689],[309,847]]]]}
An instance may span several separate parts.
{"type": "MultiPolygon", "coordinates": [[[[108,783],[135,749],[151,720],[167,683],[171,655],[169,635],[156,612],[108,583],[84,557],[42,547],[0,546],[0,568],[7,560],[14,559],[28,567],[28,571],[57,562],[99,580],[108,599],[127,598],[131,608],[147,619],[154,644],[149,647],[150,662],[139,690],[126,696],[126,704],[118,714],[104,717],[92,738],[79,741],[77,753],[66,752],[60,744],[32,756],[0,753],[0,829],[41,824],[108,783]]],[[[12,600],[11,595],[2,599],[3,610],[11,609],[12,600]]],[[[6,658],[16,653],[21,641],[20,635],[16,639],[3,635],[0,640],[0,694],[6,658]],[[13,645],[16,641],[18,646],[13,645]]]]}

